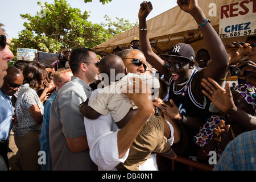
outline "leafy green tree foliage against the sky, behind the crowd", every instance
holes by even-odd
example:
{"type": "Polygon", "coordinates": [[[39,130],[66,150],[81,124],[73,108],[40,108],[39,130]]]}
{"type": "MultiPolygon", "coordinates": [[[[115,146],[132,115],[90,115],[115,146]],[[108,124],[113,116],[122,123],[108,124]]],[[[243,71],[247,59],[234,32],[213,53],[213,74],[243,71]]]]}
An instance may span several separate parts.
{"type": "Polygon", "coordinates": [[[123,19],[112,22],[108,16],[105,16],[105,23],[93,24],[87,20],[87,11],[81,14],[79,9],[72,8],[65,0],[55,0],[53,4],[46,2],[44,5],[38,2],[38,5],[42,6],[42,11],[35,16],[20,14],[27,21],[18,39],[13,39],[11,49],[14,53],[18,47],[52,53],[77,47],[92,48],[137,25],[123,19]]]}

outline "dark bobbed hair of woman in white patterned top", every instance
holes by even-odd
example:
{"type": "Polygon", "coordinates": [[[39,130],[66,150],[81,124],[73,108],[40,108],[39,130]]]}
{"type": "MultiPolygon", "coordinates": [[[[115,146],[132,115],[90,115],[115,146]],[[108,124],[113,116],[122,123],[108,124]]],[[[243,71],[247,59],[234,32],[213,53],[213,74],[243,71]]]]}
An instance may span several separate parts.
{"type": "Polygon", "coordinates": [[[23,69],[24,84],[30,84],[31,88],[38,89],[42,86],[42,80],[46,78],[46,67],[42,63],[28,63],[23,69]]]}

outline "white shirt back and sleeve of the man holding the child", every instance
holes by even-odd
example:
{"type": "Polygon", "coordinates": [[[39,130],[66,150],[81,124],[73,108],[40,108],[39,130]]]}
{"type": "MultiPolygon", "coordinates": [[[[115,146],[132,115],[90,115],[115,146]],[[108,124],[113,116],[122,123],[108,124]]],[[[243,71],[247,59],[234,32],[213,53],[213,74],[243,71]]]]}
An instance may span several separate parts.
{"type": "MultiPolygon", "coordinates": [[[[97,96],[94,90],[89,98],[89,104],[93,97],[97,96]]],[[[113,130],[113,119],[110,112],[101,115],[97,119],[84,118],[86,136],[90,148],[90,158],[98,166],[99,170],[116,170],[116,166],[127,159],[126,155],[119,159],[117,147],[118,130],[113,130]]]]}

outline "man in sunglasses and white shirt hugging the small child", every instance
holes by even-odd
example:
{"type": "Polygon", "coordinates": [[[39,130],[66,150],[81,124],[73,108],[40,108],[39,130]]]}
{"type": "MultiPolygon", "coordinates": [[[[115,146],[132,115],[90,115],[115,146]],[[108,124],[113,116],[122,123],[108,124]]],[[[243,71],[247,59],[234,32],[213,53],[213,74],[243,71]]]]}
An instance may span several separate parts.
{"type": "MultiPolygon", "coordinates": [[[[119,56],[125,63],[128,73],[141,75],[145,72],[144,64],[146,63],[146,58],[138,49],[123,50],[119,53],[119,56]]],[[[139,83],[139,86],[142,86],[142,84],[143,83],[139,83]]],[[[97,91],[92,93],[89,102],[96,96],[97,91]]],[[[117,127],[110,112],[107,115],[101,115],[95,120],[84,119],[90,148],[90,158],[97,164],[99,170],[117,170],[116,166],[121,162],[125,162],[129,154],[129,147],[151,115],[152,101],[148,100],[148,93],[128,94],[127,96],[129,98],[131,97],[130,99],[133,100],[134,104],[139,108],[134,118],[122,129],[117,127]]],[[[174,129],[170,123],[166,123],[165,126],[168,127],[168,132],[170,133],[168,142],[172,144],[174,129]]],[[[151,154],[146,162],[139,166],[139,170],[158,170],[156,155],[151,154]]]]}

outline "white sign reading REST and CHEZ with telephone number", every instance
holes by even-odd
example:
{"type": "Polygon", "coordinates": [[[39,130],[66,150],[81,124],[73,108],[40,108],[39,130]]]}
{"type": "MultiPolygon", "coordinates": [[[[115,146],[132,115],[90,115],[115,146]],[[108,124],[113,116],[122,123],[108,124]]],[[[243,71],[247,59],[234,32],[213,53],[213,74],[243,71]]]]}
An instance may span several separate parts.
{"type": "Polygon", "coordinates": [[[256,0],[220,6],[220,38],[256,34],[256,0]]]}

